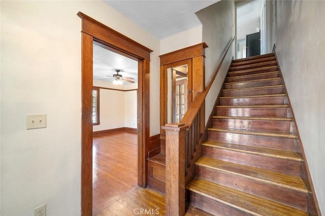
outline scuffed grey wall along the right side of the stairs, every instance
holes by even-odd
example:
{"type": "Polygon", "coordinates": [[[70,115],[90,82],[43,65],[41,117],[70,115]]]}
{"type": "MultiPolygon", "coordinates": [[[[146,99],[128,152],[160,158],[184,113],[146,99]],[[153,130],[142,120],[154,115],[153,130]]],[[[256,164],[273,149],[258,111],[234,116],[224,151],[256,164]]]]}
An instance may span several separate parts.
{"type": "Polygon", "coordinates": [[[325,214],[325,2],[277,1],[276,54],[325,214]]]}

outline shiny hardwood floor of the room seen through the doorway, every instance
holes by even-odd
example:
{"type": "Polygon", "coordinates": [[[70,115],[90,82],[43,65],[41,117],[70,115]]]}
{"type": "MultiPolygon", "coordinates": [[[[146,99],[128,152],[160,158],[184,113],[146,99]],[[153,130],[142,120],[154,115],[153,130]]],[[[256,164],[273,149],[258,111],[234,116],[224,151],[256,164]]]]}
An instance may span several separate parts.
{"type": "Polygon", "coordinates": [[[137,164],[136,133],[111,132],[93,137],[93,214],[138,187],[137,164]]]}

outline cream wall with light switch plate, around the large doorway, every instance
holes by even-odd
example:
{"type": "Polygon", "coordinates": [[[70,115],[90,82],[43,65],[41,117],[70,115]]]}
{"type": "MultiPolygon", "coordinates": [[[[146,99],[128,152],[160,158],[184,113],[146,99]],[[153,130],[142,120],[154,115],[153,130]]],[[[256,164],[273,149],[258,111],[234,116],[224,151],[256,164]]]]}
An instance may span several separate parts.
{"type": "Polygon", "coordinates": [[[154,50],[150,134],[159,133],[160,41],[103,1],[1,1],[1,215],[80,215],[79,11],[154,50]],[[26,131],[27,113],[47,128],[26,131]]]}

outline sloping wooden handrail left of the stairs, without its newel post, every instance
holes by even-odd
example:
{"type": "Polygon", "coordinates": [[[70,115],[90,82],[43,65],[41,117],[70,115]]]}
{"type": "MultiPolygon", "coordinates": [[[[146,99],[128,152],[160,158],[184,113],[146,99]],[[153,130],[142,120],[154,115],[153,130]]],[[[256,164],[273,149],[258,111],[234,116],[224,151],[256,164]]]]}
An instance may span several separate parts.
{"type": "Polygon", "coordinates": [[[189,107],[187,108],[187,111],[184,115],[184,117],[181,120],[181,123],[185,124],[185,125],[191,125],[192,122],[194,121],[196,115],[198,114],[207,94],[209,93],[209,90],[213,84],[213,81],[215,80],[215,77],[217,76],[222,62],[226,56],[226,54],[228,53],[230,47],[232,46],[233,42],[235,40],[235,37],[233,37],[233,39],[229,42],[228,47],[226,47],[226,49],[223,51],[223,56],[221,61],[219,62],[219,65],[217,67],[217,69],[215,70],[212,78],[210,79],[209,84],[207,85],[207,87],[205,88],[205,90],[203,92],[198,93],[198,95],[194,98],[193,102],[189,105],[189,107]]]}

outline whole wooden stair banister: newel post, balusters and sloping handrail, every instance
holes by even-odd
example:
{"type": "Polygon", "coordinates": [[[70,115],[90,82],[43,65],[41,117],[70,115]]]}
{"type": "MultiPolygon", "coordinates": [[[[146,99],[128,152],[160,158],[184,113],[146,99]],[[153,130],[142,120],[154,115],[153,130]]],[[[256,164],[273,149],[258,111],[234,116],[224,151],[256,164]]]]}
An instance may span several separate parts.
{"type": "MultiPolygon", "coordinates": [[[[234,37],[235,38],[235,37],[234,37]]],[[[193,163],[198,157],[205,127],[205,98],[216,78],[221,64],[234,42],[229,42],[208,86],[197,94],[180,123],[161,128],[166,131],[166,215],[185,214],[185,189],[194,173],[193,163]],[[187,171],[186,171],[187,170],[187,171]]]]}

